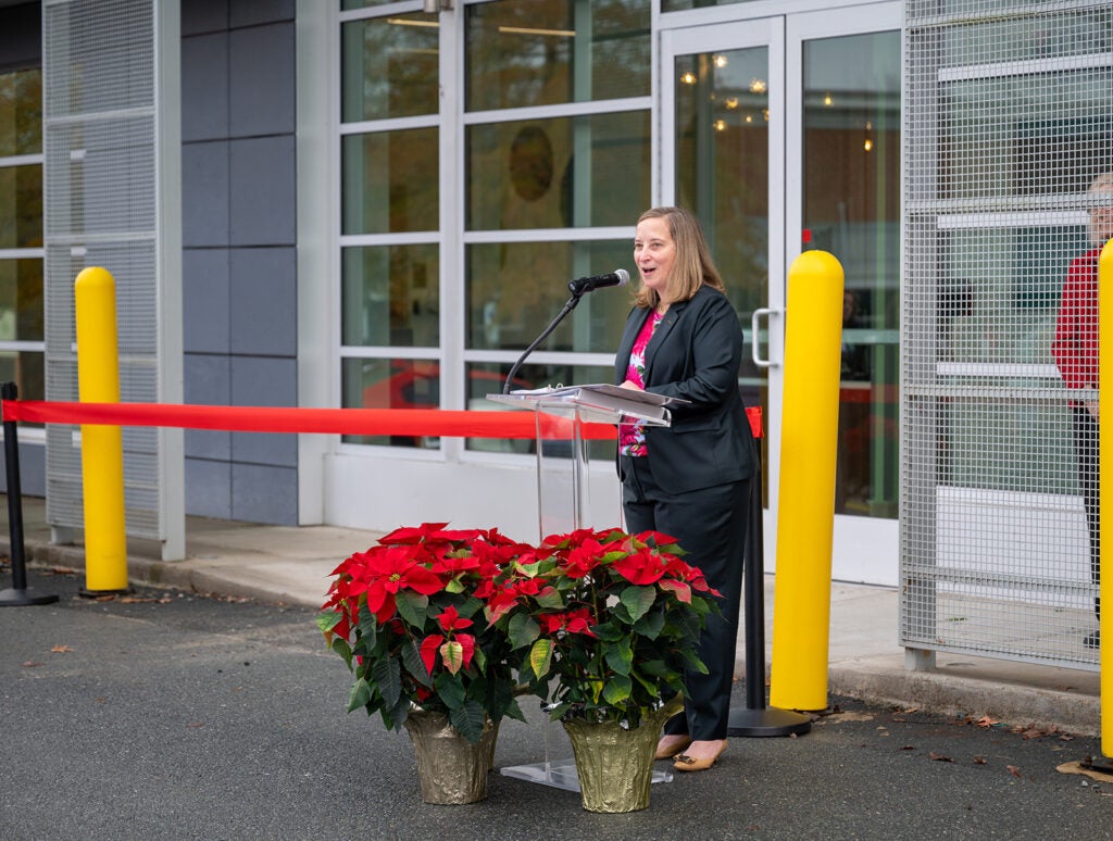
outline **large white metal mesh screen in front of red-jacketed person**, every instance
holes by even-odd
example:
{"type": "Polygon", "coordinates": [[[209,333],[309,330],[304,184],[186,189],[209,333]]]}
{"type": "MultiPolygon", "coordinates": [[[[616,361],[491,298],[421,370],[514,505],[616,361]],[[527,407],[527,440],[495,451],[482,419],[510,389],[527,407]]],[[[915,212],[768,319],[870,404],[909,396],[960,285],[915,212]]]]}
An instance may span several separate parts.
{"type": "Polygon", "coordinates": [[[1096,392],[1052,342],[1113,171],[1113,11],[905,9],[902,643],[1096,669],[1071,404],[1096,392]]]}

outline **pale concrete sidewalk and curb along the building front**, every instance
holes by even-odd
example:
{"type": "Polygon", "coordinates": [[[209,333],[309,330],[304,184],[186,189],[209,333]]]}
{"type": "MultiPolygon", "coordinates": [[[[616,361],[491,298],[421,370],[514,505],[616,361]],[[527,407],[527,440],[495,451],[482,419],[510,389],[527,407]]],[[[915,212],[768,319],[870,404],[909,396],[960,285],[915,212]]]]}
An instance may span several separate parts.
{"type": "MultiPolygon", "coordinates": [[[[0,552],[8,554],[7,497],[0,509],[0,552]]],[[[29,587],[49,592],[49,580],[39,578],[37,567],[85,568],[80,545],[50,543],[43,499],[26,497],[22,517],[29,587]]],[[[319,607],[332,571],[352,552],[371,546],[378,536],[374,532],[334,526],[267,526],[188,517],[185,561],[162,562],[159,546],[154,542],[129,541],[128,576],[135,584],[319,607]]],[[[767,665],[772,641],[774,584],[775,576],[765,576],[767,665]]],[[[0,588],[8,585],[0,578],[0,588]]],[[[975,719],[989,716],[1012,725],[1043,730],[1054,726],[1068,733],[1100,735],[1097,672],[946,653],[937,655],[934,671],[907,671],[905,651],[897,642],[897,622],[896,590],[833,583],[828,646],[831,694],[904,709],[975,719]]],[[[737,673],[745,674],[741,639],[737,673]]]]}

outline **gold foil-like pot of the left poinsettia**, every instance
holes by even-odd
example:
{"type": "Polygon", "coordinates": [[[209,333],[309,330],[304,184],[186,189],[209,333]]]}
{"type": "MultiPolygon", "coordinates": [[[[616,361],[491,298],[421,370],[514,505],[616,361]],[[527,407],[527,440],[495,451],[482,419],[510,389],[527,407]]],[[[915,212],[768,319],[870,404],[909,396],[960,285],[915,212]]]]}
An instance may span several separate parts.
{"type": "Polygon", "coordinates": [[[486,798],[498,726],[489,720],[480,741],[472,744],[442,713],[411,712],[405,724],[417,759],[422,800],[454,805],[486,798]]]}

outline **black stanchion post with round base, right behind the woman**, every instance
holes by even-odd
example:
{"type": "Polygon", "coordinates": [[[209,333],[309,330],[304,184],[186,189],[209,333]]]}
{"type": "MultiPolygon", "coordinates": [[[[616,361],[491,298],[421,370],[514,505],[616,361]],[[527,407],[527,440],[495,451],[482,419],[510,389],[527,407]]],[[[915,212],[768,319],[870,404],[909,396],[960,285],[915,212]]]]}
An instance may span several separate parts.
{"type": "Polygon", "coordinates": [[[750,522],[746,530],[742,610],[746,623],[746,709],[731,710],[727,735],[800,735],[811,719],[791,710],[766,706],[765,700],[765,524],[761,512],[760,425],[755,431],[754,478],[750,479],[750,522]]]}

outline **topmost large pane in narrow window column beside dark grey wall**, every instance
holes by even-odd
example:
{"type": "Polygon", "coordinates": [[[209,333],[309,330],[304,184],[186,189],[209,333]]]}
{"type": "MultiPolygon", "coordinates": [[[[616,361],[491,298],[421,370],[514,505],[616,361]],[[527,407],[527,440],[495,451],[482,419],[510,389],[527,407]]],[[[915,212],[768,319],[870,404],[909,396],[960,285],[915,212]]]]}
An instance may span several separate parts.
{"type": "Polygon", "coordinates": [[[400,14],[343,24],[344,122],[440,110],[440,29],[435,14],[400,14]]]}

